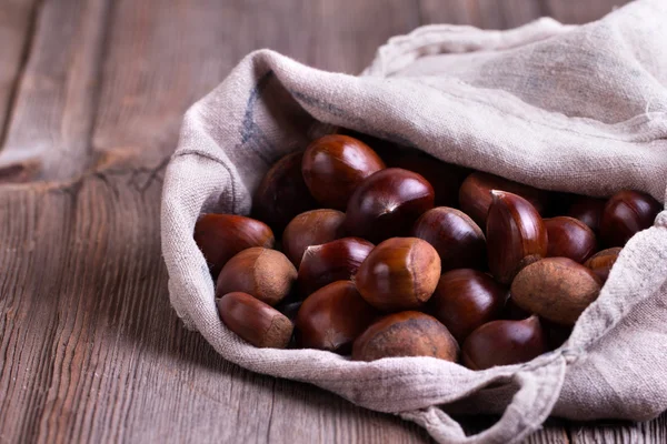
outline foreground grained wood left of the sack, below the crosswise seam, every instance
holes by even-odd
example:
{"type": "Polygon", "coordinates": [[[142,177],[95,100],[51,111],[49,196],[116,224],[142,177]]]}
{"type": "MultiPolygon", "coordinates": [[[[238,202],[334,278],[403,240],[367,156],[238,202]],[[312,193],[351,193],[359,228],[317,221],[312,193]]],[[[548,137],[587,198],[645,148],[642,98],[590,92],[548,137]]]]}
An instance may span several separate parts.
{"type": "Polygon", "coordinates": [[[160,182],[109,171],[0,190],[2,442],[428,442],[185,331],[160,258],[160,182]]]}

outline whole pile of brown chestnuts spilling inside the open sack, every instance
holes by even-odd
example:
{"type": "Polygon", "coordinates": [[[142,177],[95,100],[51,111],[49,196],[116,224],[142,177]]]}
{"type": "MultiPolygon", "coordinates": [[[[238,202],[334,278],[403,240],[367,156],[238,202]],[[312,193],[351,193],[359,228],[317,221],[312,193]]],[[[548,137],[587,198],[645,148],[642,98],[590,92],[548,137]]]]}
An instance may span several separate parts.
{"type": "Polygon", "coordinates": [[[538,190],[342,131],[280,159],[255,219],[205,214],[195,240],[220,319],[258,347],[481,370],[560,346],[660,210],[637,191],[538,190]]]}

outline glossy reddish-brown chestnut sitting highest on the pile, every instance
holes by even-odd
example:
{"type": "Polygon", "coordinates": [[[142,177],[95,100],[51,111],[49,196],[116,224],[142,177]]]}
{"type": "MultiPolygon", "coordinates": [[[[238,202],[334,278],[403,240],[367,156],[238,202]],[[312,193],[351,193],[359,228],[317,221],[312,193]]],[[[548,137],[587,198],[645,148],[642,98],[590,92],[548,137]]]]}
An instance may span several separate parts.
{"type": "Polygon", "coordinates": [[[301,171],[310,194],[320,204],[345,210],[359,183],[384,168],[385,162],[366,143],[329,134],[308,145],[301,171]]]}

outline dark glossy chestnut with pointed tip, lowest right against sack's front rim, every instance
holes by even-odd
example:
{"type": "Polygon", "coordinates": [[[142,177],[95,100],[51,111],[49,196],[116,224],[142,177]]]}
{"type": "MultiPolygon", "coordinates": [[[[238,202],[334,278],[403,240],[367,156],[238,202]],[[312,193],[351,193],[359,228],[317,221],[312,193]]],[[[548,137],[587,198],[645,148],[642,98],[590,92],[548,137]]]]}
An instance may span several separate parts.
{"type": "Polygon", "coordinates": [[[528,362],[548,351],[537,316],[522,321],[492,321],[475,330],[464,343],[461,359],[471,370],[528,362]]]}

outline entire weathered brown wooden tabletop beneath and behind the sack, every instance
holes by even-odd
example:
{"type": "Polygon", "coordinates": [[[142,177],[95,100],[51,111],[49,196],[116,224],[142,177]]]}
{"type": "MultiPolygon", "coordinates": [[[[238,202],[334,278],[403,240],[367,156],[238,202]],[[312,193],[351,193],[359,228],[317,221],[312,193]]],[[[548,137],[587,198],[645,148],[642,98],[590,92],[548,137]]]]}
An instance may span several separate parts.
{"type": "MultiPolygon", "coordinates": [[[[429,442],[182,327],[159,243],[181,114],[257,48],[355,73],[419,24],[577,23],[624,2],[0,0],[0,442],[429,442]]],[[[667,417],[550,421],[529,442],[667,442],[667,417]]]]}

